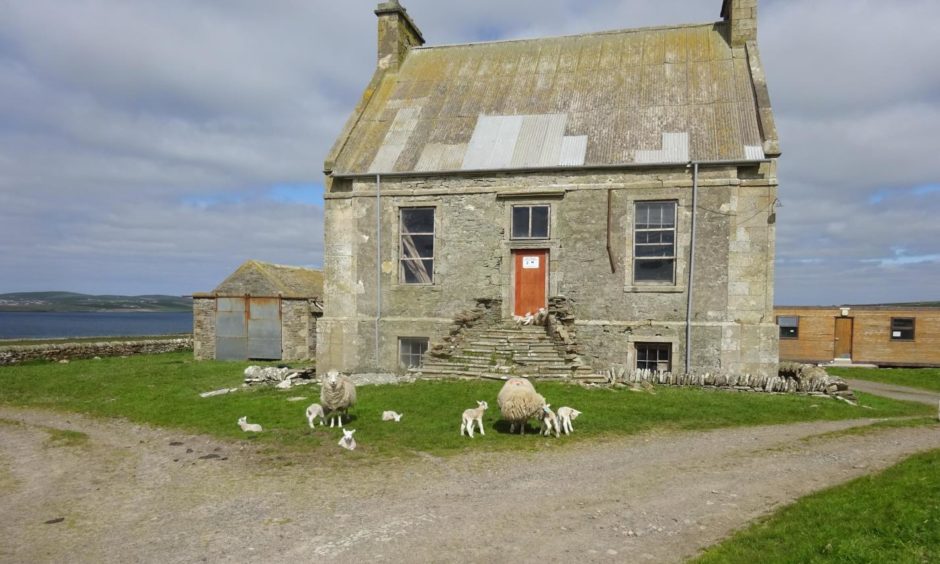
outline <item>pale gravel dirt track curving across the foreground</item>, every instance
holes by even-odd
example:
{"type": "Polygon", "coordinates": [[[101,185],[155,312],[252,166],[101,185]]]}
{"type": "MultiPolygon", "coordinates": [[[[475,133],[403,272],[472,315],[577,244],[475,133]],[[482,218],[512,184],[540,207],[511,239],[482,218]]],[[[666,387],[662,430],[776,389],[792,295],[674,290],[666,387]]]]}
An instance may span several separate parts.
{"type": "Polygon", "coordinates": [[[870,423],[858,420],[328,472],[122,422],[0,419],[5,562],[674,562],[799,496],[940,448],[935,426],[800,441],[870,423]],[[48,428],[90,440],[53,446],[48,428]]]}

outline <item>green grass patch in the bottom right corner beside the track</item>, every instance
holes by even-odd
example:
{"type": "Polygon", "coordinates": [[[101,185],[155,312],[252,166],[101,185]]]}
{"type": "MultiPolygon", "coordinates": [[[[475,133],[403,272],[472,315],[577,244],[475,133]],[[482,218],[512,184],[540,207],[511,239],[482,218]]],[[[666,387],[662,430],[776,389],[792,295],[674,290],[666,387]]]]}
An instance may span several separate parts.
{"type": "Polygon", "coordinates": [[[940,451],[807,496],[694,562],[940,562],[940,451]]]}

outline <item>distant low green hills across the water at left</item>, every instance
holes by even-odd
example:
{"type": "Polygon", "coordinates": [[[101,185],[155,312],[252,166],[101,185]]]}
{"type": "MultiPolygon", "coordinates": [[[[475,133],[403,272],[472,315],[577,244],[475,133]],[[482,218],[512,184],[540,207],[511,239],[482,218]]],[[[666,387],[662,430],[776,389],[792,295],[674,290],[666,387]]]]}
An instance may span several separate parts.
{"type": "Polygon", "coordinates": [[[192,311],[180,296],[91,296],[73,292],[0,294],[0,311],[192,311]]]}

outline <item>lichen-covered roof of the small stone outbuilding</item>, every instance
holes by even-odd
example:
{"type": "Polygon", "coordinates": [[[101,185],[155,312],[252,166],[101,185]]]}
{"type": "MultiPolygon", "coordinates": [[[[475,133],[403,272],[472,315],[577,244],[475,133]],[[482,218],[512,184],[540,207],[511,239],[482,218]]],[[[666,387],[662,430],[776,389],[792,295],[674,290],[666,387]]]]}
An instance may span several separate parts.
{"type": "Polygon", "coordinates": [[[219,284],[212,294],[318,298],[323,295],[323,272],[249,260],[219,284]]]}

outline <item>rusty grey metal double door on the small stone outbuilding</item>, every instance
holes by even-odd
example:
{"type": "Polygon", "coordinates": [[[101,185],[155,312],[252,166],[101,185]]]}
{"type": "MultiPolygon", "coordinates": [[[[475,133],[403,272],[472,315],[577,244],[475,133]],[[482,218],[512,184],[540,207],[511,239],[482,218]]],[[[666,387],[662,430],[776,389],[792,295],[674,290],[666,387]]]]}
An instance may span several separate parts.
{"type": "Polygon", "coordinates": [[[280,299],[217,298],[216,307],[217,359],[280,360],[280,299]]]}

